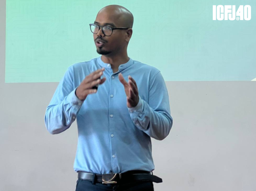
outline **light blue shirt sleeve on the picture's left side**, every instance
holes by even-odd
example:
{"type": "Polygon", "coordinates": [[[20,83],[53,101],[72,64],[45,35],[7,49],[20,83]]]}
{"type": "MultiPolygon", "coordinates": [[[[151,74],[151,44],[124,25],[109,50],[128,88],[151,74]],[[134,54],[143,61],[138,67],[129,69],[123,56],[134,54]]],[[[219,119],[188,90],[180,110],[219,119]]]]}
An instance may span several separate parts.
{"type": "Polygon", "coordinates": [[[76,97],[76,88],[73,88],[73,70],[69,67],[46,108],[44,121],[49,133],[59,134],[75,121],[84,102],[76,97]]]}

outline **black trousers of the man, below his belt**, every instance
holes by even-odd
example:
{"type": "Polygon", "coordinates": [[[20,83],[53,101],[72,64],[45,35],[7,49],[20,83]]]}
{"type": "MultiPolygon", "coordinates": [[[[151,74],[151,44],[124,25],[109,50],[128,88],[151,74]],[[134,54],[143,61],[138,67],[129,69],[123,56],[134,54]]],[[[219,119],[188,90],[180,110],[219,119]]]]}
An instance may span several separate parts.
{"type": "Polygon", "coordinates": [[[129,183],[102,184],[90,180],[77,179],[75,191],[154,191],[153,182],[149,180],[129,183]]]}

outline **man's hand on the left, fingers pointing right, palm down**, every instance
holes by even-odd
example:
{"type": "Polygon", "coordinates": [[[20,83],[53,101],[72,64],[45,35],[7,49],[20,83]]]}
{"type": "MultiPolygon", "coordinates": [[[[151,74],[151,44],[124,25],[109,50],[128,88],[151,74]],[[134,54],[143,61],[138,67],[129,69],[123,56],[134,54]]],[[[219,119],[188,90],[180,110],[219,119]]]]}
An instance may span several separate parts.
{"type": "Polygon", "coordinates": [[[103,84],[106,80],[104,77],[103,79],[98,79],[103,74],[105,68],[101,68],[90,73],[88,76],[84,78],[81,84],[77,87],[75,94],[78,99],[84,101],[88,94],[96,93],[97,90],[93,89],[96,84],[103,84]]]}

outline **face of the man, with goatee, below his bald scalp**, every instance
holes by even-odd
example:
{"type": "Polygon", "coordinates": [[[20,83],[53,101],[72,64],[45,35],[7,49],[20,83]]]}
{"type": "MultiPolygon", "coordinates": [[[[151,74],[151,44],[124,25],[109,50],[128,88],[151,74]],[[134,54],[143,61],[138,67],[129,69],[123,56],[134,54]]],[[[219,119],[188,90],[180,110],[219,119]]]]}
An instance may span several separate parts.
{"type": "MultiPolygon", "coordinates": [[[[115,22],[115,20],[116,18],[113,14],[109,14],[108,12],[100,12],[96,17],[94,24],[100,26],[107,25],[113,28],[123,27],[118,26],[118,23],[115,22]]],[[[100,28],[97,34],[93,34],[97,53],[101,55],[117,54],[125,47],[124,32],[125,30],[113,30],[110,36],[106,36],[102,32],[102,28],[100,28]],[[96,42],[97,40],[102,40],[103,44],[98,44],[96,42]]]]}

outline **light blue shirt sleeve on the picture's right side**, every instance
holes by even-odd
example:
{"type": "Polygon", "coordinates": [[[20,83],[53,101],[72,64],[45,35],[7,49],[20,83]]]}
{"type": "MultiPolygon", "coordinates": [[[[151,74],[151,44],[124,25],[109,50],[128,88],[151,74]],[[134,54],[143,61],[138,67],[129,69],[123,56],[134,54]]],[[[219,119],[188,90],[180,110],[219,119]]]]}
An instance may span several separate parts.
{"type": "Polygon", "coordinates": [[[151,80],[148,103],[139,96],[138,104],[127,108],[135,126],[147,135],[162,140],[170,133],[173,118],[167,87],[160,71],[151,80]]]}

